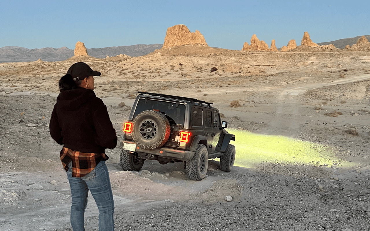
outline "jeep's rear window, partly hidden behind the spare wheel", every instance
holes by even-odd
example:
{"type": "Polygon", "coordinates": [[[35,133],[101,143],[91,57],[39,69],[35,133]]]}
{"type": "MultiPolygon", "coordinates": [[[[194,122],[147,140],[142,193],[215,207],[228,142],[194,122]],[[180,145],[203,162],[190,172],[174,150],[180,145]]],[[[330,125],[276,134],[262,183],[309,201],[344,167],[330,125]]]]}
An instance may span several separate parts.
{"type": "Polygon", "coordinates": [[[136,106],[134,118],[143,111],[147,110],[156,110],[164,113],[166,115],[169,123],[175,123],[179,126],[184,126],[185,120],[185,105],[179,103],[176,108],[176,103],[157,101],[148,99],[145,103],[144,99],[139,99],[139,102],[136,106]],[[172,121],[173,120],[173,121],[172,121]]]}

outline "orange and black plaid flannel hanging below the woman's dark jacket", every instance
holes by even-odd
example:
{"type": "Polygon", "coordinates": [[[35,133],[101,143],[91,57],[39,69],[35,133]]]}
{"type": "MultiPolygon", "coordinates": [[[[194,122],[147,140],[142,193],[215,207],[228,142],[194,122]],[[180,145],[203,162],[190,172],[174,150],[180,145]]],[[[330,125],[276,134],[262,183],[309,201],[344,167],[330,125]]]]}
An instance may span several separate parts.
{"type": "Polygon", "coordinates": [[[65,171],[68,171],[68,164],[72,161],[72,177],[83,177],[90,173],[100,161],[108,159],[105,153],[85,153],[67,147],[63,147],[60,151],[60,160],[65,171]]]}

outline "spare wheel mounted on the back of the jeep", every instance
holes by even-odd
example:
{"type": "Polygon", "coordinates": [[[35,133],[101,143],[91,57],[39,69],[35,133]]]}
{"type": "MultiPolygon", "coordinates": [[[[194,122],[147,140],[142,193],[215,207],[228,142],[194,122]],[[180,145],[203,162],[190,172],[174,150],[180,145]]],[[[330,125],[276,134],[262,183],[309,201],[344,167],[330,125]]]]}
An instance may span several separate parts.
{"type": "Polygon", "coordinates": [[[171,133],[165,115],[158,111],[143,111],[133,121],[132,138],[142,149],[155,149],[164,145],[171,133]]]}

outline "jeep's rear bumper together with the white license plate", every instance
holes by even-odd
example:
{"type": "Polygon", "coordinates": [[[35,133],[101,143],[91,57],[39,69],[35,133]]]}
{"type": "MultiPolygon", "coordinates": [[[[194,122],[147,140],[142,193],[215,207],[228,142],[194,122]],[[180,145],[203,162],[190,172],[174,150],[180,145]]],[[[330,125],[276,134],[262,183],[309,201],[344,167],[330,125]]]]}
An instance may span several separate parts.
{"type": "MultiPolygon", "coordinates": [[[[135,142],[122,140],[120,142],[120,147],[123,149],[123,143],[131,143],[135,144],[135,142]]],[[[167,147],[159,147],[156,149],[142,149],[141,147],[136,145],[135,152],[142,152],[142,153],[148,153],[156,156],[160,156],[167,159],[175,159],[175,160],[181,160],[181,161],[188,161],[193,159],[194,153],[193,151],[182,151],[182,150],[176,150],[171,149],[167,147]]]]}

